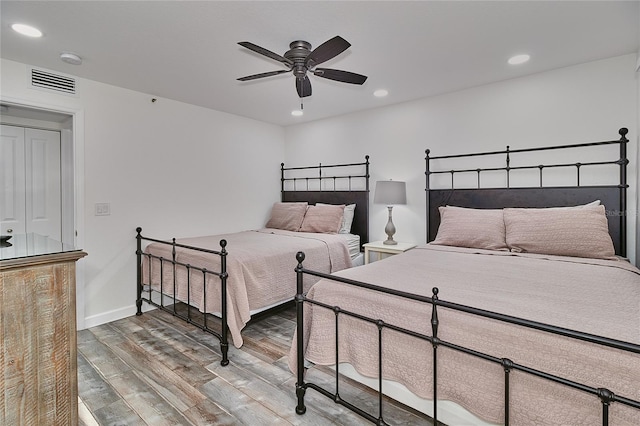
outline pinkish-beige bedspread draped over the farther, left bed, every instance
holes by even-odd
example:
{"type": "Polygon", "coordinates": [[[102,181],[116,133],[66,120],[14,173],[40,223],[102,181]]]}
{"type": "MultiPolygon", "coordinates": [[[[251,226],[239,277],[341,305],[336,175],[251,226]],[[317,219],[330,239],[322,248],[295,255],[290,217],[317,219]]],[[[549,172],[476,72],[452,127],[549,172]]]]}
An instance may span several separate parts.
{"type": "MultiPolygon", "coordinates": [[[[325,273],[336,272],[351,266],[351,257],[344,238],[340,235],[290,232],[277,229],[261,229],[225,235],[184,238],[176,240],[209,250],[220,250],[220,240],[227,240],[227,321],[229,332],[236,347],[242,346],[240,331],[251,318],[251,312],[271,307],[296,294],[297,266],[295,254],[302,250],[310,259],[309,265],[325,273]]],[[[171,246],[149,244],[146,253],[171,259],[171,246]]],[[[178,248],[176,260],[211,271],[220,271],[220,257],[194,250],[178,248]]],[[[143,283],[149,283],[149,261],[143,259],[143,283]]],[[[173,271],[165,263],[163,269],[165,294],[173,296],[173,271]]],[[[220,312],[220,279],[208,275],[206,300],[203,292],[203,277],[198,271],[191,274],[191,293],[187,294],[187,272],[176,271],[177,299],[188,302],[201,311],[220,312]],[[206,305],[205,305],[206,303],[206,305]]],[[[160,288],[160,265],[151,263],[151,284],[160,288]]],[[[311,282],[310,282],[311,283],[311,282]]]]}

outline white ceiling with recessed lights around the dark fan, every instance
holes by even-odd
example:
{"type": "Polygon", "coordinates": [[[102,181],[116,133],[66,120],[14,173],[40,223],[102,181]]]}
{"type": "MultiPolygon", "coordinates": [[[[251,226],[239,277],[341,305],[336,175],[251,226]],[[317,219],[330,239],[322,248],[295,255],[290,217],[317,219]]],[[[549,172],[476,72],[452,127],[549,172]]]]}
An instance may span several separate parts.
{"type": "Polygon", "coordinates": [[[8,1],[2,58],[278,125],[291,125],[635,53],[638,2],[580,1],[8,1]],[[38,27],[30,39],[16,22],[38,27]],[[340,35],[352,46],[322,66],[369,76],[363,86],[310,76],[239,82],[283,69],[237,44],[280,55],[340,35]],[[69,65],[62,52],[84,62],[69,65]],[[507,59],[528,53],[518,67],[507,59]],[[389,91],[375,98],[374,90],[389,91]]]}

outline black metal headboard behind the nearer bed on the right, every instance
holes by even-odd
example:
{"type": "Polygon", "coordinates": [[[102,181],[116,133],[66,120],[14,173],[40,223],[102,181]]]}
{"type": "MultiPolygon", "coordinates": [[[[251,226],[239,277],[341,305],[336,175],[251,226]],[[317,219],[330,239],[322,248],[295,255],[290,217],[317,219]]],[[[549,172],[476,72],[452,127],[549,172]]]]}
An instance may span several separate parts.
{"type": "Polygon", "coordinates": [[[600,200],[605,206],[609,221],[609,234],[613,240],[616,254],[626,256],[627,252],[627,143],[628,130],[621,128],[618,133],[620,139],[589,142],[583,144],[560,145],[551,147],[539,147],[528,149],[505,151],[480,152],[472,154],[444,155],[431,157],[430,150],[426,150],[426,192],[427,192],[427,242],[433,241],[440,225],[440,212],[438,207],[454,205],[472,208],[505,208],[505,207],[564,207],[586,204],[594,200],[600,200]],[[610,161],[591,161],[578,163],[554,163],[511,166],[513,154],[552,151],[561,149],[584,149],[603,145],[619,145],[620,158],[610,161]],[[488,155],[506,155],[506,165],[492,168],[463,168],[454,170],[432,170],[431,161],[449,160],[468,157],[480,157],[488,155]],[[616,185],[580,185],[581,169],[589,166],[617,165],[620,168],[620,179],[616,185]],[[575,168],[577,183],[575,186],[543,186],[543,171],[556,168],[575,168]],[[537,187],[511,187],[510,174],[514,170],[538,170],[539,186],[537,187]],[[480,175],[482,172],[505,172],[506,185],[500,188],[481,188],[480,175]],[[477,187],[458,189],[454,187],[454,175],[461,173],[477,174],[477,187]],[[434,174],[450,174],[451,186],[447,189],[432,189],[431,176],[434,174]]]}

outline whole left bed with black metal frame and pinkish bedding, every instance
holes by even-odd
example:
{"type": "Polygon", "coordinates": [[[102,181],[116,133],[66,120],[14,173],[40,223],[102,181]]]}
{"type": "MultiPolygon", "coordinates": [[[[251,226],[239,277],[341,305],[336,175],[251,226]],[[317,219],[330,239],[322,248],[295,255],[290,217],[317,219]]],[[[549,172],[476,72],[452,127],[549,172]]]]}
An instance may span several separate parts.
{"type": "MultiPolygon", "coordinates": [[[[263,229],[166,241],[143,236],[137,228],[137,315],[146,302],[216,336],[220,362],[227,365],[229,334],[240,347],[241,330],[251,320],[292,303],[294,255],[301,247],[313,250],[316,266],[326,272],[351,267],[362,257],[360,247],[368,242],[368,156],[361,163],[282,164],[281,189],[282,203],[274,203],[263,229]],[[330,229],[303,232],[307,204],[316,203],[333,205],[320,208],[334,212],[330,229]],[[344,221],[342,205],[355,205],[352,223],[344,221]],[[340,231],[350,227],[350,233],[332,230],[334,224],[340,231]]],[[[322,214],[314,216],[316,224],[325,223],[322,214]]]]}

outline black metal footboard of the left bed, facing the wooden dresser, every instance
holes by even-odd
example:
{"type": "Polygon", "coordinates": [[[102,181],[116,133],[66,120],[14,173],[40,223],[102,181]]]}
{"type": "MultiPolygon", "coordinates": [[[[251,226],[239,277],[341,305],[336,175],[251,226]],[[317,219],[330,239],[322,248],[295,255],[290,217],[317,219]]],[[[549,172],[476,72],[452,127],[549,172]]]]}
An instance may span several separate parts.
{"type": "MultiPolygon", "coordinates": [[[[136,232],[137,232],[137,236],[136,236],[136,240],[137,240],[137,249],[136,249],[136,255],[137,255],[137,295],[136,295],[136,307],[137,307],[137,312],[136,315],[142,315],[142,302],[147,302],[150,305],[155,306],[158,309],[161,309],[165,312],[169,312],[170,314],[172,314],[175,317],[178,317],[184,321],[186,321],[189,324],[193,324],[196,327],[202,329],[203,331],[206,331],[207,333],[210,333],[212,335],[214,335],[215,337],[217,337],[220,340],[220,351],[222,353],[222,360],[220,361],[220,364],[225,366],[229,364],[229,358],[228,358],[228,351],[229,351],[229,340],[228,340],[228,328],[227,328],[227,250],[226,250],[226,246],[227,246],[227,241],[226,240],[220,240],[220,250],[216,251],[216,250],[208,250],[208,249],[203,249],[200,247],[192,247],[192,246],[188,246],[188,245],[184,245],[184,244],[178,244],[176,243],[175,238],[172,240],[172,242],[167,242],[167,241],[162,241],[162,240],[157,240],[157,239],[153,239],[153,238],[148,238],[148,237],[143,237],[142,236],[142,228],[136,228],[136,232]],[[159,243],[159,244],[166,244],[167,246],[171,247],[171,258],[167,259],[167,258],[163,258],[163,257],[159,257],[159,256],[154,256],[152,254],[149,253],[145,253],[142,251],[142,241],[149,241],[149,242],[154,242],[154,243],[159,243]],[[195,251],[200,251],[200,252],[204,252],[204,253],[210,253],[213,255],[217,255],[220,256],[220,270],[219,271],[213,271],[213,270],[208,270],[205,267],[198,267],[198,266],[193,266],[190,264],[186,264],[186,263],[182,263],[176,260],[176,248],[181,248],[181,249],[187,249],[187,250],[195,250],[195,251]],[[152,264],[152,260],[156,260],[159,263],[159,267],[160,267],[160,283],[159,283],[159,289],[154,289],[151,283],[151,279],[149,278],[148,282],[143,282],[143,262],[145,261],[145,259],[148,262],[148,268],[149,268],[149,277],[151,276],[151,264],[152,264]],[[164,268],[166,267],[171,268],[172,271],[172,277],[173,277],[173,282],[171,282],[170,284],[168,283],[164,283],[164,268]],[[187,298],[186,300],[180,300],[177,297],[176,294],[176,271],[178,268],[184,268],[184,270],[186,271],[186,277],[187,277],[187,298]],[[209,324],[208,324],[208,317],[210,315],[210,313],[207,312],[206,310],[206,303],[205,306],[203,307],[202,310],[199,310],[196,307],[193,307],[191,305],[191,285],[192,285],[192,274],[201,274],[202,276],[202,282],[206,283],[207,282],[207,277],[209,276],[215,276],[218,277],[220,279],[220,306],[221,306],[221,312],[220,312],[220,320],[221,320],[221,328],[220,331],[217,331],[213,328],[210,328],[209,324]],[[170,288],[172,288],[173,290],[171,290],[169,293],[167,293],[165,291],[165,284],[170,285],[170,288]],[[153,295],[156,294],[157,298],[159,298],[158,300],[154,300],[153,299],[153,295]],[[170,305],[165,305],[164,301],[166,299],[169,299],[171,301],[170,305]],[[177,309],[177,304],[178,302],[183,302],[186,305],[186,313],[184,312],[180,312],[177,309]],[[193,314],[193,312],[198,312],[199,315],[197,315],[199,317],[199,320],[196,320],[195,315],[193,314]]],[[[207,290],[207,286],[203,285],[202,291],[203,291],[203,297],[206,300],[206,290],[207,290]]]]}

